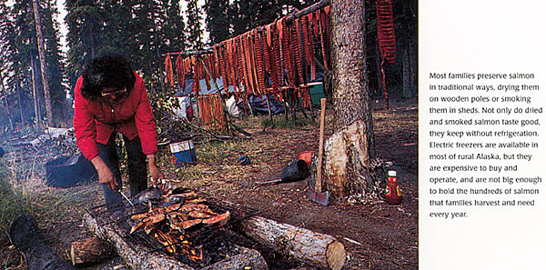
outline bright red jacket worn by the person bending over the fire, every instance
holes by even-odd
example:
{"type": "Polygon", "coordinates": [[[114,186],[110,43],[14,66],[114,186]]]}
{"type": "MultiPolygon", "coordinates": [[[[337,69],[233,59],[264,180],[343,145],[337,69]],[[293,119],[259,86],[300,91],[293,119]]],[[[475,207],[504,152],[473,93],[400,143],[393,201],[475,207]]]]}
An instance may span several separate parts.
{"type": "Polygon", "coordinates": [[[84,98],[81,94],[83,81],[80,76],[74,88],[74,131],[77,146],[88,160],[98,155],[96,143],[106,145],[116,129],[130,140],[138,135],[145,155],[157,153],[156,120],[140,76],[136,75],[135,85],[129,95],[113,106],[100,100],[84,98]]]}

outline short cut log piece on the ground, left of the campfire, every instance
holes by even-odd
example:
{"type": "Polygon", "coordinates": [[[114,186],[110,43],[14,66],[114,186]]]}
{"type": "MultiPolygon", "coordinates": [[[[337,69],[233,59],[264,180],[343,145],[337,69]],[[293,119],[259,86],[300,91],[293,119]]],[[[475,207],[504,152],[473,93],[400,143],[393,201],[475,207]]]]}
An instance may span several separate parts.
{"type": "Polygon", "coordinates": [[[96,237],[72,242],[70,257],[72,265],[94,263],[108,258],[109,253],[102,242],[96,237]]]}

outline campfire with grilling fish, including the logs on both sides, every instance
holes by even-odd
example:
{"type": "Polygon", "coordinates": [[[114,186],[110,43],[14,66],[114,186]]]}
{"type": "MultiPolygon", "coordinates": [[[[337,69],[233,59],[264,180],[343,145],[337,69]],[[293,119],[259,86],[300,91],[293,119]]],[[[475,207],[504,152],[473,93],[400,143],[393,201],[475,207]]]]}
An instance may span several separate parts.
{"type": "Polygon", "coordinates": [[[115,212],[105,206],[89,209],[85,224],[131,269],[268,269],[255,248],[320,269],[345,264],[345,248],[335,237],[184,188],[148,189],[115,212]]]}

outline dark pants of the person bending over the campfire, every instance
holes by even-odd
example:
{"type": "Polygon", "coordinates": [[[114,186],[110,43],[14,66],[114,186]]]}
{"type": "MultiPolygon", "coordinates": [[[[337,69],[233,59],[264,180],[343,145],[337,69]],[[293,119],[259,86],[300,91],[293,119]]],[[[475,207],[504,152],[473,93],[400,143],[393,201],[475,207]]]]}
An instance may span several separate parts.
{"type": "MultiPolygon", "coordinates": [[[[123,141],[125,143],[125,150],[127,155],[127,170],[129,172],[129,185],[131,188],[131,196],[147,189],[147,168],[146,168],[146,155],[142,153],[142,146],[140,145],[140,138],[136,137],[133,140],[129,140],[123,135],[123,141]]],[[[98,153],[100,158],[104,160],[108,168],[116,177],[117,188],[121,189],[121,173],[119,172],[119,158],[117,156],[116,148],[116,132],[110,135],[108,143],[106,145],[96,144],[98,146],[98,153]]],[[[123,198],[116,191],[103,185],[105,192],[105,201],[109,209],[115,205],[123,204],[123,198]]]]}

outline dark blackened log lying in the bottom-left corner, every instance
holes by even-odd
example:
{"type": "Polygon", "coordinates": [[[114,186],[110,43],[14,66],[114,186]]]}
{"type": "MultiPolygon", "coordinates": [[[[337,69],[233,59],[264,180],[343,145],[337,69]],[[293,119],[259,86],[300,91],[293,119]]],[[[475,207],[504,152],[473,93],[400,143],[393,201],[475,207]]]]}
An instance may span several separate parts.
{"type": "Polygon", "coordinates": [[[29,270],[74,270],[45,245],[44,236],[32,215],[19,215],[9,226],[9,239],[25,256],[29,270]]]}

